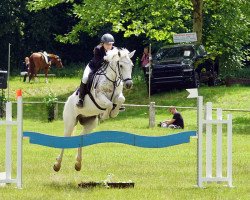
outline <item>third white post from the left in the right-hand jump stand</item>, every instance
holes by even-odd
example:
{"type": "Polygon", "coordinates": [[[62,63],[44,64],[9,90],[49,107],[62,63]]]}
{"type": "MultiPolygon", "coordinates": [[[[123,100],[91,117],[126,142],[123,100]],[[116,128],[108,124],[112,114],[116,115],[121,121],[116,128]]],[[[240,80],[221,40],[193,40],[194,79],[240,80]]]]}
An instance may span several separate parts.
{"type": "MultiPolygon", "coordinates": [[[[222,109],[217,109],[217,120],[222,120],[222,109]]],[[[217,124],[216,177],[222,178],[222,124],[217,124]]]]}

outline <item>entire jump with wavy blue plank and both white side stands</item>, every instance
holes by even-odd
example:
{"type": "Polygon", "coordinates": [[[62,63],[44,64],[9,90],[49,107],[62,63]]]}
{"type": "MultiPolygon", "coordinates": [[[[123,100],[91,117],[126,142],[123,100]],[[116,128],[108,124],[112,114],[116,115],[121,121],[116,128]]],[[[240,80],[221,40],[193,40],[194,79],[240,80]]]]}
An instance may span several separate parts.
{"type": "Polygon", "coordinates": [[[29,137],[30,143],[52,148],[79,148],[98,143],[122,143],[143,148],[164,148],[173,145],[188,143],[191,136],[198,139],[197,142],[197,185],[203,187],[204,182],[227,182],[232,187],[232,116],[222,119],[222,110],[217,109],[217,119],[212,119],[212,103],[205,106],[206,117],[203,119],[203,98],[197,98],[197,130],[186,131],[166,136],[142,136],[120,131],[100,131],[87,135],[73,137],[56,137],[36,132],[23,132],[23,104],[22,96],[17,99],[17,121],[12,120],[11,102],[6,104],[6,120],[0,121],[0,125],[6,125],[6,166],[5,172],[0,174],[0,184],[15,183],[22,187],[22,139],[29,137]],[[222,125],[227,125],[227,173],[223,176],[222,168],[222,125]],[[18,127],[17,140],[17,177],[11,177],[11,128],[18,127]],[[205,126],[204,126],[205,125],[205,126]],[[216,135],[216,175],[212,174],[212,125],[217,125],[216,135]],[[205,127],[205,131],[203,128],[205,127]],[[203,173],[203,134],[206,134],[206,170],[203,173]]]}

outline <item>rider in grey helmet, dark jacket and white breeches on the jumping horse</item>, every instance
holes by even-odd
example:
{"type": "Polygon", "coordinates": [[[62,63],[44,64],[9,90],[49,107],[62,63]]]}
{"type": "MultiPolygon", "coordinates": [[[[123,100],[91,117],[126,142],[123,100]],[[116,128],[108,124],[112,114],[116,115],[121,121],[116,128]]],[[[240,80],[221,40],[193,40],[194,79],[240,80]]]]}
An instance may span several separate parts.
{"type": "Polygon", "coordinates": [[[115,42],[114,37],[111,34],[106,33],[101,37],[101,43],[94,48],[94,57],[86,66],[82,76],[79,89],[79,101],[76,104],[77,107],[79,108],[83,107],[84,97],[87,92],[86,84],[88,81],[89,74],[91,72],[95,73],[98,69],[100,69],[100,67],[104,62],[104,56],[106,56],[106,52],[114,48],[113,47],[114,42],[115,42]]]}

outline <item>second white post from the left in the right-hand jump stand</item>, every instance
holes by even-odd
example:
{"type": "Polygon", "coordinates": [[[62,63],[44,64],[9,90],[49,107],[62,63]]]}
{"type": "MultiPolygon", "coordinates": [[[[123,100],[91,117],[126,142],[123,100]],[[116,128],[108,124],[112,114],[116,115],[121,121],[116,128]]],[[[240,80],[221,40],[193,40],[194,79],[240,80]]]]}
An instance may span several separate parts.
{"type": "MultiPolygon", "coordinates": [[[[206,104],[206,120],[212,120],[212,103],[206,104]]],[[[206,177],[212,178],[212,123],[206,124],[206,177]]]]}

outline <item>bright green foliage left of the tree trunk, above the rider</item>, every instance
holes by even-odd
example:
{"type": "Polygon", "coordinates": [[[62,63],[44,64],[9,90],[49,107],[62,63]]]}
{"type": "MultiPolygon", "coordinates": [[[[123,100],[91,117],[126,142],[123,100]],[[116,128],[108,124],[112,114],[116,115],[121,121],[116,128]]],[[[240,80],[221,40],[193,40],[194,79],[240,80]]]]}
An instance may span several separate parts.
{"type": "MultiPolygon", "coordinates": [[[[50,8],[61,0],[30,1],[31,10],[50,8]],[[48,3],[49,2],[49,3],[48,3]]],[[[62,42],[78,42],[80,32],[97,34],[103,26],[110,25],[113,32],[123,32],[125,37],[145,35],[155,40],[172,41],[174,32],[192,30],[191,2],[189,0],[85,0],[73,3],[73,13],[79,22],[72,30],[58,39],[62,42]]]]}

